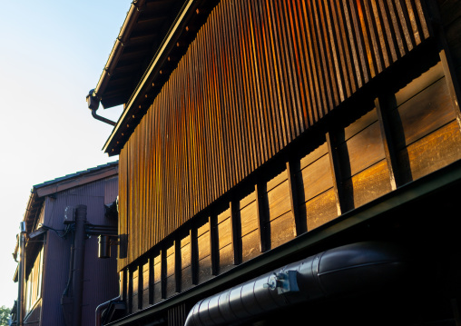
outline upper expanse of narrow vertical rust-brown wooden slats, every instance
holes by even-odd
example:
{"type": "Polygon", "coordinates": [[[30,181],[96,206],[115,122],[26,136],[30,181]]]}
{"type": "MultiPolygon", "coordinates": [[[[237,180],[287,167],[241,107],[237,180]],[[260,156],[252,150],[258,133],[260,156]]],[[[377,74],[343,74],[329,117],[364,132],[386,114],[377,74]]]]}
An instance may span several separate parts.
{"type": "MultiPolygon", "coordinates": [[[[128,242],[121,246],[119,268],[208,207],[428,37],[418,0],[221,1],[120,153],[120,234],[128,242]]],[[[373,136],[378,132],[378,124],[368,129],[373,136]]],[[[359,137],[343,143],[339,155],[353,150],[359,137]]],[[[381,161],[373,169],[386,179],[383,151],[376,149],[381,161]]],[[[366,186],[357,183],[356,174],[344,178],[357,192],[366,186]]],[[[268,193],[270,198],[284,193],[288,183],[268,193]]],[[[306,203],[328,206],[331,195],[306,203]]],[[[283,214],[270,216],[263,228],[271,223],[293,226],[293,212],[283,214]]],[[[334,216],[327,215],[323,219],[334,216]]],[[[222,247],[219,254],[229,255],[225,251],[222,247]]]]}

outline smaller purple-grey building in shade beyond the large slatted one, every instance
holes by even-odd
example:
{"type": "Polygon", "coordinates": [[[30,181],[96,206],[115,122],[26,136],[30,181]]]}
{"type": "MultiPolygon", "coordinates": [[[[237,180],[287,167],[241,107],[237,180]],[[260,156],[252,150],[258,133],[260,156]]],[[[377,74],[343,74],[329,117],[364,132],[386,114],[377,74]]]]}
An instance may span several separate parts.
{"type": "MultiPolygon", "coordinates": [[[[24,312],[16,305],[15,325],[74,326],[79,319],[78,325],[92,325],[96,307],[118,294],[115,255],[98,258],[98,234],[116,236],[117,195],[117,162],[33,186],[24,216],[24,293],[17,301],[24,302],[24,312]],[[83,218],[80,242],[77,215],[83,218]]],[[[19,261],[18,249],[16,245],[14,255],[19,261]]],[[[19,271],[15,282],[21,284],[19,271]]]]}

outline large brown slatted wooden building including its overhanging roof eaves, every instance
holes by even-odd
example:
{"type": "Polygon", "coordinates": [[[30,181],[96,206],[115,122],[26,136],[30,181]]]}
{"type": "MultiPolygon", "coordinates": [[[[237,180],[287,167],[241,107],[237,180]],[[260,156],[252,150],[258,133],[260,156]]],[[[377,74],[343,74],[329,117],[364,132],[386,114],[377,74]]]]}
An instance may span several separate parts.
{"type": "Polygon", "coordinates": [[[127,308],[104,322],[460,324],[460,32],[456,0],[133,1],[87,97],[124,105],[103,150],[127,308]],[[229,308],[363,242],[407,267],[273,305],[264,276],[229,308]]]}

